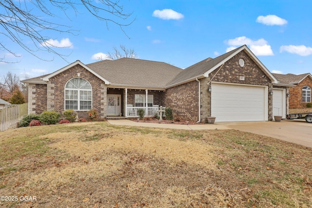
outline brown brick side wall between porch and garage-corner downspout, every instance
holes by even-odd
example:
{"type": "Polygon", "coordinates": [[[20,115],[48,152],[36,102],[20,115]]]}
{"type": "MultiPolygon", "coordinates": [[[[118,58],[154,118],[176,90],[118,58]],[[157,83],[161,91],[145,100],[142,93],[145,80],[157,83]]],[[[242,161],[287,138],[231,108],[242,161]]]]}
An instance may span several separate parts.
{"type": "Polygon", "coordinates": [[[164,105],[173,109],[175,119],[197,121],[198,82],[192,81],[167,89],[164,105]]]}

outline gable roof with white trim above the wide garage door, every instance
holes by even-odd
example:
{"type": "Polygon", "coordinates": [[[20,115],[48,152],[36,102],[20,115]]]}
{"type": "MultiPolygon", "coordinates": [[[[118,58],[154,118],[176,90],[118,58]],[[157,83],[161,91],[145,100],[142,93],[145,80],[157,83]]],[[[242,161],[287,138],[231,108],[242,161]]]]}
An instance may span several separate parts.
{"type": "Polygon", "coordinates": [[[263,70],[263,72],[270,77],[273,83],[277,83],[277,79],[271,74],[271,72],[261,63],[261,61],[254,56],[251,50],[246,46],[243,45],[239,48],[236,48],[226,54],[223,54],[216,58],[207,58],[202,60],[186,69],[184,69],[180,74],[178,74],[174,79],[172,79],[167,87],[172,87],[178,84],[181,84],[185,81],[189,81],[192,79],[196,79],[199,77],[208,77],[210,73],[212,73],[215,69],[220,67],[226,61],[234,57],[239,52],[245,50],[245,52],[254,60],[254,62],[263,70]]]}

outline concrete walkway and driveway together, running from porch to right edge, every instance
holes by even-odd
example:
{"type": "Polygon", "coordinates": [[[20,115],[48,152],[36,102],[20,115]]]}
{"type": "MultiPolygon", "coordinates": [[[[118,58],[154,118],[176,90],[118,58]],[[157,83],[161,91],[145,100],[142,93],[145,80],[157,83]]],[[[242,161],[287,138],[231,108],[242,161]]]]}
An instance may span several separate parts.
{"type": "Polygon", "coordinates": [[[302,119],[259,122],[229,122],[202,125],[180,125],[180,124],[158,124],[134,122],[127,119],[108,120],[112,125],[139,126],[166,129],[183,130],[214,130],[214,129],[236,129],[243,132],[251,132],[276,139],[292,142],[312,148],[312,124],[302,119]]]}

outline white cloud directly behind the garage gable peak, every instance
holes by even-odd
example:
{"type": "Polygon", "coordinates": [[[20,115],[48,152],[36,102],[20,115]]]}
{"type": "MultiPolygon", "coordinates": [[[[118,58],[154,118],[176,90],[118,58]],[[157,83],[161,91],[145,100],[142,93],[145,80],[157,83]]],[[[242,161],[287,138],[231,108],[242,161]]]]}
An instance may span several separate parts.
{"type": "Polygon", "coordinates": [[[237,46],[248,45],[250,50],[256,56],[273,56],[273,51],[271,49],[271,45],[268,45],[268,41],[263,38],[258,40],[252,40],[250,38],[246,38],[245,36],[229,39],[226,41],[230,47],[226,49],[226,52],[232,51],[237,46]]]}

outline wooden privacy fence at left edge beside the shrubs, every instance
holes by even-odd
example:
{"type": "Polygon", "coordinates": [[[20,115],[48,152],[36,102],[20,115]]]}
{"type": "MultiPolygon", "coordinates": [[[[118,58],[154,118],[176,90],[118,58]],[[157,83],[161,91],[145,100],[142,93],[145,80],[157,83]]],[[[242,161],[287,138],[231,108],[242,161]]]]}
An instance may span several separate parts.
{"type": "Polygon", "coordinates": [[[0,109],[0,131],[16,127],[24,115],[28,114],[28,103],[9,105],[0,109]]]}

